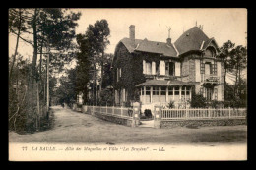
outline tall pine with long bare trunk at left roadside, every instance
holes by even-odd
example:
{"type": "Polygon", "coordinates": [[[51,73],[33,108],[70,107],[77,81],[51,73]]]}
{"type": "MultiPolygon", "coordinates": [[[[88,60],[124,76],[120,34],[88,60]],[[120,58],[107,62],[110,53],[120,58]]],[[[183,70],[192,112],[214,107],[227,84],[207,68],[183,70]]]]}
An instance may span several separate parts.
{"type": "MultiPolygon", "coordinates": [[[[80,18],[81,14],[69,13],[66,9],[56,8],[24,9],[23,14],[22,17],[24,20],[19,21],[22,21],[21,26],[27,26],[25,32],[32,35],[32,40],[25,39],[21,35],[19,36],[19,33],[11,31],[15,28],[13,22],[10,22],[11,20],[9,24],[11,23],[12,25],[10,25],[9,29],[10,32],[16,34],[20,39],[31,44],[33,47],[32,65],[30,66],[30,77],[28,80],[28,99],[30,99],[30,101],[27,106],[27,116],[30,118],[33,117],[33,115],[40,115],[39,91],[43,89],[45,93],[45,84],[43,85],[42,83],[46,82],[44,80],[46,74],[42,72],[42,54],[50,55],[50,65],[53,66],[53,68],[51,68],[52,70],[55,70],[55,68],[62,69],[65,62],[72,60],[74,52],[68,55],[67,52],[74,49],[72,39],[75,37],[76,21],[80,18]],[[43,51],[43,49],[47,50],[43,51]],[[40,63],[37,67],[38,54],[40,54],[40,63]]],[[[9,16],[11,16],[11,14],[9,14],[9,16]]],[[[35,123],[37,124],[37,122],[35,123]]]]}

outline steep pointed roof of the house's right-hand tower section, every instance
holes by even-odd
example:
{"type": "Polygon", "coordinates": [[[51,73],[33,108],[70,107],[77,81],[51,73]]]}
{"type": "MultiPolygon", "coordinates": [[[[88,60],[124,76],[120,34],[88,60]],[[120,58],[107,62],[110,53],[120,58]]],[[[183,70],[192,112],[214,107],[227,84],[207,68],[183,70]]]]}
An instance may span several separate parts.
{"type": "MultiPolygon", "coordinates": [[[[185,31],[175,42],[180,54],[191,50],[200,50],[202,43],[209,42],[208,36],[198,27],[193,27],[185,31]]],[[[206,43],[205,43],[206,44],[206,43]]]]}

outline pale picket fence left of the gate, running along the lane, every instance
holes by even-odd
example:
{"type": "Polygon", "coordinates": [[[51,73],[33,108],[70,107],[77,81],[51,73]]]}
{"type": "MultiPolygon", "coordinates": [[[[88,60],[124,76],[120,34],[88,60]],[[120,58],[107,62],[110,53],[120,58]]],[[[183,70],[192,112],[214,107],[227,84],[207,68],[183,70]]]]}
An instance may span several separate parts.
{"type": "Polygon", "coordinates": [[[126,107],[87,106],[90,113],[108,114],[119,117],[132,117],[133,110],[126,107]]]}

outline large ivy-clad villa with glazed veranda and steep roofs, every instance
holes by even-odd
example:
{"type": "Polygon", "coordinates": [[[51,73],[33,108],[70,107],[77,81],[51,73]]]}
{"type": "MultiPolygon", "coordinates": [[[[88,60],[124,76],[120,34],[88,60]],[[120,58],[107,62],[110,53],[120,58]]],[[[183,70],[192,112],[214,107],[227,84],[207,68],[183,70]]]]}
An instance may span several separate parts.
{"type": "Polygon", "coordinates": [[[135,38],[135,26],[129,38],[116,45],[113,72],[115,104],[140,101],[144,108],[173,102],[187,104],[192,92],[207,100],[224,100],[224,67],[219,48],[201,28],[185,31],[174,43],[135,38]]]}

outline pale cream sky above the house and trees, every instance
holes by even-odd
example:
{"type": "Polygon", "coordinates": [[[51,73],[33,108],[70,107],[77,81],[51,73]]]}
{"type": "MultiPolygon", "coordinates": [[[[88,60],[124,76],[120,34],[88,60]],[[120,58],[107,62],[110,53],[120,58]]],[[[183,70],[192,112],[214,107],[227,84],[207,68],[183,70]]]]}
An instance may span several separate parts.
{"type": "MultiPolygon", "coordinates": [[[[129,26],[135,25],[135,38],[166,42],[168,28],[172,43],[194,26],[203,25],[203,31],[214,37],[219,46],[227,40],[247,46],[246,9],[71,9],[81,12],[76,33],[85,33],[88,26],[105,19],[110,28],[106,53],[114,53],[115,46],[129,37],[129,26]]],[[[14,54],[16,37],[10,35],[9,54],[14,54]]],[[[26,37],[26,36],[25,36],[26,37]]],[[[32,60],[32,47],[20,41],[18,52],[32,60]]],[[[71,64],[73,65],[73,64],[71,64]]]]}

